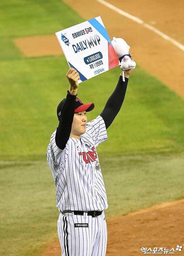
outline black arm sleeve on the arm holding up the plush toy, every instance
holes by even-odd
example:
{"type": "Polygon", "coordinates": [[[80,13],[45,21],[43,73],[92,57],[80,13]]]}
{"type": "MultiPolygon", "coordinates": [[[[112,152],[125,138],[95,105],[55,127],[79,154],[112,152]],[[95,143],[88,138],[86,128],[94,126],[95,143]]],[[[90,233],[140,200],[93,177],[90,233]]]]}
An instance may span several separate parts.
{"type": "Polygon", "coordinates": [[[128,85],[128,78],[125,77],[125,82],[122,79],[122,76],[119,77],[119,81],[117,83],[114,92],[108,98],[107,103],[105,104],[104,109],[100,116],[103,118],[105,122],[106,129],[112,124],[114,118],[117,113],[121,109],[122,103],[124,101],[126,88],[128,85]]]}

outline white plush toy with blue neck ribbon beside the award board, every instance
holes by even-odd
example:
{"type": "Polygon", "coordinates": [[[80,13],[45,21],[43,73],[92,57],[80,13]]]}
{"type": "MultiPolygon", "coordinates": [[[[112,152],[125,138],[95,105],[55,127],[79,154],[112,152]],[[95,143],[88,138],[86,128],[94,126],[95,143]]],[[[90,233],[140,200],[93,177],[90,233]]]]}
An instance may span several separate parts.
{"type": "MultiPolygon", "coordinates": [[[[131,60],[131,56],[129,54],[130,46],[126,43],[125,40],[122,38],[113,37],[112,46],[119,58],[121,63],[121,69],[128,70],[128,69],[135,69],[136,63],[135,61],[131,60]]],[[[123,72],[123,81],[124,79],[124,72],[123,72]]]]}

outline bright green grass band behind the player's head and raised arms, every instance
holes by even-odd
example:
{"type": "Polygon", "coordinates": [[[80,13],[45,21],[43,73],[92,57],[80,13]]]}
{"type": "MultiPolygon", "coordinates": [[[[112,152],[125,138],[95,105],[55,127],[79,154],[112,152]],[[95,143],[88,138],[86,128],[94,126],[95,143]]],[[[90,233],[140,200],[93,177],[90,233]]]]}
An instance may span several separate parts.
{"type": "MultiPolygon", "coordinates": [[[[68,89],[64,56],[0,62],[1,160],[42,160],[56,129],[56,107],[68,89]]],[[[101,113],[119,79],[119,67],[79,85],[78,96],[94,102],[88,121],[101,113]]],[[[140,67],[129,78],[123,106],[107,130],[106,155],[182,151],[183,100],[140,67]],[[113,148],[112,148],[112,145],[113,148]]]]}

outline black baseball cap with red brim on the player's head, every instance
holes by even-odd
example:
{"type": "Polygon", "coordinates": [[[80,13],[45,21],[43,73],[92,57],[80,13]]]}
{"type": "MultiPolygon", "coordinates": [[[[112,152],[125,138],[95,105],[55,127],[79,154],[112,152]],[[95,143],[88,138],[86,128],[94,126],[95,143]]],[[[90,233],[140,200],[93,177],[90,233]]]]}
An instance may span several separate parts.
{"type": "MultiPolygon", "coordinates": [[[[63,107],[64,102],[65,102],[65,99],[63,99],[57,107],[58,120],[60,118],[60,115],[62,114],[62,107],[63,107]]],[[[95,107],[94,103],[83,104],[79,98],[76,98],[76,100],[75,100],[75,113],[82,112],[82,111],[89,112],[89,111],[93,110],[94,107],[95,107]]]]}

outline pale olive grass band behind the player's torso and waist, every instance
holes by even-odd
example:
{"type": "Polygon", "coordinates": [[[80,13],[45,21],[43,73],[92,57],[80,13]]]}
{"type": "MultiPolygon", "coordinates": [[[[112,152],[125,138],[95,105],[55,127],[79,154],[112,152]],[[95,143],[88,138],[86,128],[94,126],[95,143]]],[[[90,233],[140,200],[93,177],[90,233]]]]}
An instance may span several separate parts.
{"type": "MultiPolygon", "coordinates": [[[[106,218],[184,195],[184,153],[111,158],[100,154],[99,158],[109,205],[106,218]]],[[[2,164],[0,252],[39,255],[49,241],[57,239],[59,212],[49,166],[46,161],[2,164]]]]}

